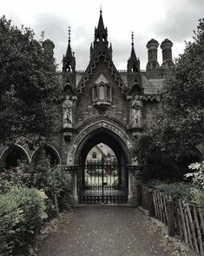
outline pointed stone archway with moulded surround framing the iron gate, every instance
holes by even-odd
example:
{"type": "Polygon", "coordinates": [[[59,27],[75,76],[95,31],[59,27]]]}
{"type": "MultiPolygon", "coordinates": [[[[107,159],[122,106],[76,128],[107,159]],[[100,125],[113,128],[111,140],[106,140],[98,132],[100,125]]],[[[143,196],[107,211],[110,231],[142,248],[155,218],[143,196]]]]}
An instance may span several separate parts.
{"type": "MultiPolygon", "coordinates": [[[[78,138],[76,137],[72,152],[69,152],[69,161],[75,166],[77,165],[77,172],[75,177],[74,195],[79,203],[127,203],[128,199],[132,196],[132,185],[129,176],[132,173],[128,172],[128,165],[131,164],[130,156],[131,144],[128,136],[122,131],[122,128],[116,125],[109,124],[107,121],[101,121],[97,124],[89,125],[83,131],[80,132],[78,138]],[[84,191],[88,190],[88,187],[84,188],[84,173],[87,168],[85,159],[95,145],[103,143],[108,145],[117,158],[116,168],[119,173],[118,186],[116,189],[111,186],[112,184],[104,188],[104,184],[97,185],[97,194],[93,191],[93,186],[90,189],[88,196],[84,197],[84,191]],[[72,153],[72,154],[71,154],[72,153]],[[70,158],[71,157],[71,158],[70,158]],[[101,185],[101,187],[100,187],[101,185]],[[108,191],[109,190],[109,191],[108,191]],[[112,192],[112,193],[110,193],[112,192]],[[92,196],[90,196],[92,194],[92,196]],[[106,196],[106,197],[105,197],[106,196]],[[103,198],[102,198],[103,197],[103,198]],[[94,200],[93,200],[94,199],[94,200]]],[[[103,165],[98,164],[97,169],[103,170],[103,165]]],[[[96,168],[96,167],[95,167],[96,168]]],[[[103,175],[103,171],[102,171],[103,175]]],[[[98,179],[97,179],[98,180],[98,179]]],[[[92,184],[93,185],[93,184],[92,184]]]]}

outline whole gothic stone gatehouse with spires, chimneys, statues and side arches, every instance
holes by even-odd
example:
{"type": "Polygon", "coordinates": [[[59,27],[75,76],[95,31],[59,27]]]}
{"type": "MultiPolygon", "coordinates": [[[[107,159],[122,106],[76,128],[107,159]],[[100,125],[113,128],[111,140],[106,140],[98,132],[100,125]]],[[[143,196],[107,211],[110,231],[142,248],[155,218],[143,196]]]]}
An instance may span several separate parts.
{"type": "MultiPolygon", "coordinates": [[[[62,165],[63,170],[69,172],[76,202],[130,203],[135,198],[134,188],[140,182],[140,165],[132,155],[132,148],[135,138],[141,131],[148,129],[147,111],[154,109],[160,101],[166,74],[174,68],[172,45],[168,39],[161,43],[160,65],[157,61],[159,44],[151,39],[147,44],[147,70],[141,71],[132,40],[128,69],[117,71],[101,10],[95,28],[95,39],[90,46],[88,67],[85,71],[76,71],[76,58],[71,50],[69,37],[61,73],[64,97],[61,106],[62,129],[45,149],[62,165]],[[85,159],[89,151],[99,143],[109,145],[115,152],[117,182],[110,181],[109,184],[107,176],[103,177],[102,166],[97,166],[101,170],[100,179],[97,174],[98,181],[95,182],[90,176],[87,185],[85,159]]],[[[53,52],[55,45],[46,40],[43,47],[46,51],[53,52]]],[[[12,148],[2,149],[0,158],[8,164],[16,154],[16,158],[24,158],[30,162],[37,151],[38,149],[30,152],[22,145],[14,145],[12,148]]]]}

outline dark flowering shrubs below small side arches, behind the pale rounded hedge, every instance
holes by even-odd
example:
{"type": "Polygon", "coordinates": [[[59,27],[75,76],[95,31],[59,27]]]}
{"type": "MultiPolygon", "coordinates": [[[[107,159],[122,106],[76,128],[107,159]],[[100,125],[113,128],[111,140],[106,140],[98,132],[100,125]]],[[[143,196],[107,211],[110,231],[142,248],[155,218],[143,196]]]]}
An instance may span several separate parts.
{"type": "Polygon", "coordinates": [[[50,164],[45,152],[30,165],[19,163],[16,169],[0,173],[0,194],[14,185],[43,189],[49,198],[46,202],[49,219],[56,217],[58,210],[68,210],[72,205],[69,177],[60,167],[50,164]]]}

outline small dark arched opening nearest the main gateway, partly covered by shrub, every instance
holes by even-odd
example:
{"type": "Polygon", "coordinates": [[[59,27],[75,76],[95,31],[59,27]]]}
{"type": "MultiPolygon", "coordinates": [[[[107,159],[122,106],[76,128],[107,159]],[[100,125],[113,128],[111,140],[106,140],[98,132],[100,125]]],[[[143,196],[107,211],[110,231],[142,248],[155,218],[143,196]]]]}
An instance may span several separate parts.
{"type": "Polygon", "coordinates": [[[36,161],[37,158],[41,157],[43,152],[45,153],[46,157],[49,158],[51,166],[59,165],[61,163],[59,153],[51,145],[43,145],[41,147],[38,147],[33,153],[31,160],[36,161]]]}

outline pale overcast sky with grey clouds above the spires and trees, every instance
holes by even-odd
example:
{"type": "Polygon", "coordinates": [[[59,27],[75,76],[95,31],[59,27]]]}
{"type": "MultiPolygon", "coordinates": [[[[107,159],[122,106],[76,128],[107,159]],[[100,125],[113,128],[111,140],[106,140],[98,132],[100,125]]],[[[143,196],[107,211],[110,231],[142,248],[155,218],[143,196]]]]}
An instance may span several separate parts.
{"type": "MultiPolygon", "coordinates": [[[[144,70],[148,40],[155,38],[161,44],[165,38],[170,39],[174,43],[173,57],[178,57],[184,41],[192,38],[199,18],[204,17],[204,0],[0,0],[0,3],[0,15],[11,19],[13,24],[30,27],[37,39],[41,31],[45,32],[45,39],[56,45],[57,64],[66,52],[70,26],[77,70],[84,70],[89,64],[89,47],[101,5],[118,70],[127,69],[131,31],[135,33],[135,52],[144,70]]],[[[158,57],[161,64],[160,46],[158,57]]]]}

